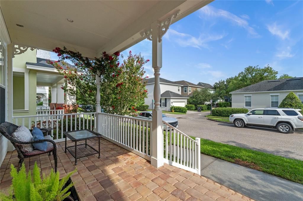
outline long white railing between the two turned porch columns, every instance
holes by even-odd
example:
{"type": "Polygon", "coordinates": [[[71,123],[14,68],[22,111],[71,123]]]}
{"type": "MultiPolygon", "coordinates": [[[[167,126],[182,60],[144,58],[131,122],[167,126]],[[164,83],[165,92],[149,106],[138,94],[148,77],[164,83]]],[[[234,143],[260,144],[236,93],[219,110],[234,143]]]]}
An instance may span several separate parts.
{"type": "Polygon", "coordinates": [[[103,138],[151,160],[151,120],[107,113],[98,113],[98,120],[103,138]]]}

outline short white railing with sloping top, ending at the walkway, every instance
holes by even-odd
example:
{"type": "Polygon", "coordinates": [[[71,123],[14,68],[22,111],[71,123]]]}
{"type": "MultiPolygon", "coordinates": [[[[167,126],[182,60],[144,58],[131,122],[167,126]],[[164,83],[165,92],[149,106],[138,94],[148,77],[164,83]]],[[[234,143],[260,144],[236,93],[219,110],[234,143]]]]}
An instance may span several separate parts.
{"type": "Polygon", "coordinates": [[[180,130],[163,123],[164,162],[196,174],[201,174],[200,138],[192,139],[180,130]]]}

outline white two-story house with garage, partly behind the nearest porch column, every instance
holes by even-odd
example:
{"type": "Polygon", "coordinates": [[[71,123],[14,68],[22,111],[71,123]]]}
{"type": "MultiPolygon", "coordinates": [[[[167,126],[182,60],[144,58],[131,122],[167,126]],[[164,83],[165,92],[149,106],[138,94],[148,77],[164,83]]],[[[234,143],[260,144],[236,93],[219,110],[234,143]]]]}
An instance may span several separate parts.
{"type": "MultiPolygon", "coordinates": [[[[145,98],[145,104],[148,105],[148,109],[154,107],[154,84],[155,78],[149,78],[145,80],[146,90],[148,91],[147,98],[145,98]]],[[[171,105],[185,107],[188,97],[181,95],[182,85],[176,84],[173,81],[160,78],[160,90],[161,94],[161,108],[162,110],[170,110],[171,105]]]]}

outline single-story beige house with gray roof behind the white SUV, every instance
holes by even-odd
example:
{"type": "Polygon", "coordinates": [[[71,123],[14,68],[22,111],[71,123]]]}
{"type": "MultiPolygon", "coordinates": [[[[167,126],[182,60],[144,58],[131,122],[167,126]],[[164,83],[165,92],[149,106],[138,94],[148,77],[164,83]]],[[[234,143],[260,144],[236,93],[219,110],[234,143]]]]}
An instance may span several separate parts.
{"type": "Polygon", "coordinates": [[[303,102],[303,78],[265,80],[231,92],[232,107],[278,107],[283,99],[294,92],[303,102]]]}

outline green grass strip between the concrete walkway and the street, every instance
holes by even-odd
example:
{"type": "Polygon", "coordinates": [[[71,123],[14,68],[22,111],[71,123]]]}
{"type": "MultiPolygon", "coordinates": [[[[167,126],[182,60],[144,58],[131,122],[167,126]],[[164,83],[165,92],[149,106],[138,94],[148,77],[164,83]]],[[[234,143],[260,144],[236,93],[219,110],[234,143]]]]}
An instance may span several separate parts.
{"type": "Polygon", "coordinates": [[[300,160],[206,139],[201,139],[201,153],[303,184],[303,161],[300,160]]]}

